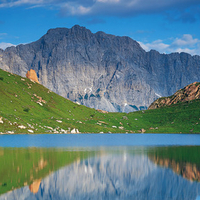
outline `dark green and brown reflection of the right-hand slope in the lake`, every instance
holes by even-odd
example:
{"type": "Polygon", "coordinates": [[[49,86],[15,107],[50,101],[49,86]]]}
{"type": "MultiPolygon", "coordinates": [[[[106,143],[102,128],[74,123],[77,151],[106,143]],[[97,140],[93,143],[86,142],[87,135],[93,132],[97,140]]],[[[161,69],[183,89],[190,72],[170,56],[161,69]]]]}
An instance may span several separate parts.
{"type": "Polygon", "coordinates": [[[156,147],[149,158],[161,167],[171,168],[190,181],[200,182],[200,146],[156,147]]]}

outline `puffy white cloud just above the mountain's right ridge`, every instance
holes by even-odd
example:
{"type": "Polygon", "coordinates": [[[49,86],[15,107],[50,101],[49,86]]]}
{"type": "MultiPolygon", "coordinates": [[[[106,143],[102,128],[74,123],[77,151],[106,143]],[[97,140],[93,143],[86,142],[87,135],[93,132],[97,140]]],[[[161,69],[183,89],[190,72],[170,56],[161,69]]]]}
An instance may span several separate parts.
{"type": "Polygon", "coordinates": [[[186,52],[192,55],[200,55],[200,40],[193,38],[190,34],[184,34],[181,38],[175,38],[171,43],[164,43],[163,40],[156,40],[151,43],[139,42],[146,51],[151,49],[160,53],[186,52]]]}

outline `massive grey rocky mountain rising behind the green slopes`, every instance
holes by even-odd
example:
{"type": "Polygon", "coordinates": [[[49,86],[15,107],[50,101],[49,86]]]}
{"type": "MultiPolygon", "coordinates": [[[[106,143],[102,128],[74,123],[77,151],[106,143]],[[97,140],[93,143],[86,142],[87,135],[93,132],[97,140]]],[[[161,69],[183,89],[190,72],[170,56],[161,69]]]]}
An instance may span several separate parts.
{"type": "Polygon", "coordinates": [[[158,97],[200,81],[200,56],[145,52],[129,37],[93,34],[78,25],[0,50],[0,68],[23,77],[33,69],[55,93],[113,112],[146,109],[158,97]]]}

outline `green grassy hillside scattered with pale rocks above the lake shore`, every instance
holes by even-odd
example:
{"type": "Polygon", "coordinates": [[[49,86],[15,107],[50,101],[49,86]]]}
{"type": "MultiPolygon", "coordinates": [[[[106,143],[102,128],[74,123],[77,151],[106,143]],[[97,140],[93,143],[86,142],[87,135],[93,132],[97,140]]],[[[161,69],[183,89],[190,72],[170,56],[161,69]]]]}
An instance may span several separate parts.
{"type": "Polygon", "coordinates": [[[133,113],[100,113],[0,70],[0,133],[200,133],[200,100],[133,113]],[[73,131],[72,131],[73,132],[73,131]]]}

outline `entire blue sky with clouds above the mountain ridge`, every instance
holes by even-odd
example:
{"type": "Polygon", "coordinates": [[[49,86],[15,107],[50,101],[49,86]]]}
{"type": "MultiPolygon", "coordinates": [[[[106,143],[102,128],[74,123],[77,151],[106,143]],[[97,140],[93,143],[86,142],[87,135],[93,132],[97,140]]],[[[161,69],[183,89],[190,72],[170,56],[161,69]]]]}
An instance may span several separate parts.
{"type": "Polygon", "coordinates": [[[79,24],[146,50],[200,55],[200,0],[0,0],[0,48],[79,24]]]}

